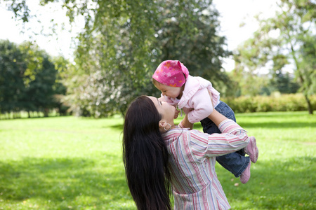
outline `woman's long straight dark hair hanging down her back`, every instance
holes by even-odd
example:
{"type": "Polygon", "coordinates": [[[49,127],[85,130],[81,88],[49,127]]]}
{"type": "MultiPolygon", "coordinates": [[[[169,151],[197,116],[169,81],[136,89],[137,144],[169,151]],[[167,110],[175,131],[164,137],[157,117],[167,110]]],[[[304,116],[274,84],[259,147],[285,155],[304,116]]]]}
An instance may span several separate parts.
{"type": "Polygon", "coordinates": [[[129,190],[140,210],[171,209],[168,151],[159,132],[161,120],[149,97],[140,96],[126,111],[123,162],[129,190]]]}

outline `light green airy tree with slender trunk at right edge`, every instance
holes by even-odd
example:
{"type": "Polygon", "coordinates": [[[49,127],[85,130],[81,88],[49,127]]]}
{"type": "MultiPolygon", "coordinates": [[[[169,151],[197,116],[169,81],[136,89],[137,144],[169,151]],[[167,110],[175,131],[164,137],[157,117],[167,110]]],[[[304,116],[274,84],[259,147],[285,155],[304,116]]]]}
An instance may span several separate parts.
{"type": "Polygon", "coordinates": [[[260,28],[235,54],[236,71],[255,71],[272,63],[272,71],[282,72],[291,64],[312,114],[309,96],[315,94],[315,62],[311,62],[312,57],[315,60],[315,43],[311,40],[315,42],[316,4],[311,0],[281,0],[277,5],[273,18],[263,20],[258,15],[260,28]]]}

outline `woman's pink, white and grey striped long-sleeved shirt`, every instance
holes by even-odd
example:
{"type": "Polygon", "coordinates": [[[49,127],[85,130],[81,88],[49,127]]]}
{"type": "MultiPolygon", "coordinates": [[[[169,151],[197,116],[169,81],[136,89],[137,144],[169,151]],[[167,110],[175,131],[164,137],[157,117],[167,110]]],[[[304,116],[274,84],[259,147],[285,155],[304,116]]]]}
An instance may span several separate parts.
{"type": "Polygon", "coordinates": [[[169,150],[174,209],[230,209],[215,172],[216,156],[244,148],[246,131],[232,120],[218,126],[222,134],[176,128],[163,134],[169,150]]]}

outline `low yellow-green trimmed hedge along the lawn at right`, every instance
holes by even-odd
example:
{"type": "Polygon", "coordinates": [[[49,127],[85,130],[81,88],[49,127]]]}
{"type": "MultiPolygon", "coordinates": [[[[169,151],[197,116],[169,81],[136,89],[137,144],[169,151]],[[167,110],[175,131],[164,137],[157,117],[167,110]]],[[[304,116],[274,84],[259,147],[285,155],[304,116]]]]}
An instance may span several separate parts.
{"type": "MultiPolygon", "coordinates": [[[[303,94],[272,94],[271,96],[221,98],[235,113],[267,111],[307,111],[303,94]]],[[[313,110],[316,109],[316,95],[310,96],[313,110]]]]}

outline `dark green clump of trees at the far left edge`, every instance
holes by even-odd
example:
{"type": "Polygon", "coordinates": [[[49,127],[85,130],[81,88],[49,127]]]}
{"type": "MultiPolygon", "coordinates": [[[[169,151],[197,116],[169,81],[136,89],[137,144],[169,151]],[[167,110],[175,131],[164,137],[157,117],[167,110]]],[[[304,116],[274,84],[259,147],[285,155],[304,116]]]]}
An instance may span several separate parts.
{"type": "Polygon", "coordinates": [[[0,41],[0,111],[41,111],[58,107],[55,94],[65,87],[56,83],[57,71],[45,52],[36,45],[0,41]]]}

